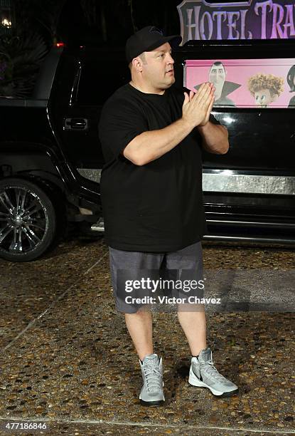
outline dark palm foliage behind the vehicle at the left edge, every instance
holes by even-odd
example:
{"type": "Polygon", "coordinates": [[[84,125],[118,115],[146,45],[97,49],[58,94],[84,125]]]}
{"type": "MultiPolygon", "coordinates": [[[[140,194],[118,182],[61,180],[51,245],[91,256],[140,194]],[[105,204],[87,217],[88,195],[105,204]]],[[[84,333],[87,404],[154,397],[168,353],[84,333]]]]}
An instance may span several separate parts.
{"type": "Polygon", "coordinates": [[[0,38],[0,96],[28,97],[48,49],[38,34],[0,38]]]}

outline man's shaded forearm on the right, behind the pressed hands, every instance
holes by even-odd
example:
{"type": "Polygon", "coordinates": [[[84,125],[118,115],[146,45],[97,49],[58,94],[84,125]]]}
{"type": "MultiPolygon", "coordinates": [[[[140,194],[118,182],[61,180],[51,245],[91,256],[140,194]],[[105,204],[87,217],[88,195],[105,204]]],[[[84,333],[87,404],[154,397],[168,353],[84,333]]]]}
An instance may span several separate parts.
{"type": "Polygon", "coordinates": [[[224,155],[227,152],[228,133],[223,125],[208,121],[204,126],[198,126],[198,131],[202,136],[204,150],[217,155],[224,155]]]}

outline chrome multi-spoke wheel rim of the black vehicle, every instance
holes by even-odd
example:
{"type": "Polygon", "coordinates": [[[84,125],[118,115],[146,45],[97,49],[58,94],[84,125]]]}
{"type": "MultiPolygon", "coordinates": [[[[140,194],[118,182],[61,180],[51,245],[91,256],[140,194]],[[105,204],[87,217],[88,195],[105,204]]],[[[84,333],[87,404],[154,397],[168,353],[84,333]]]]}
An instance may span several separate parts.
{"type": "Polygon", "coordinates": [[[0,191],[0,248],[9,254],[25,254],[40,246],[48,232],[47,209],[26,187],[0,191]]]}

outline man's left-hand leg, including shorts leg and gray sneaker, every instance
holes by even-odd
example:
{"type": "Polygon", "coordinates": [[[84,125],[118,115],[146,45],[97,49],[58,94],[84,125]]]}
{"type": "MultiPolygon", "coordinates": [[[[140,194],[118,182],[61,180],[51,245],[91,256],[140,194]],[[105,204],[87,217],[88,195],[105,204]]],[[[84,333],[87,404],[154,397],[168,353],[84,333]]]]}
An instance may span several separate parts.
{"type": "MultiPolygon", "coordinates": [[[[150,273],[153,274],[155,270],[159,271],[163,256],[164,254],[159,253],[122,251],[109,247],[109,266],[116,308],[125,314],[127,329],[139,355],[143,382],[139,400],[142,405],[146,406],[158,406],[165,400],[162,359],[153,353],[151,312],[142,310],[142,307],[139,307],[143,306],[141,304],[130,306],[126,302],[126,291],[129,295],[136,295],[134,289],[126,289],[126,279],[128,277],[128,286],[132,286],[134,280],[141,280],[141,275],[143,278],[146,274],[149,277],[150,273]]],[[[144,289],[146,286],[143,284],[136,297],[140,294],[144,297],[144,289]]]]}

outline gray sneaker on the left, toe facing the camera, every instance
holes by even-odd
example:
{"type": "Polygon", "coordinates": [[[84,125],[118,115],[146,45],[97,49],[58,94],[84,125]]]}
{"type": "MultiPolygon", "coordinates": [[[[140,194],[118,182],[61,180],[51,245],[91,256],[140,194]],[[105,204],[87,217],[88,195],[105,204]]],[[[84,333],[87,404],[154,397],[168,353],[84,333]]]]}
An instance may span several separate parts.
{"type": "Polygon", "coordinates": [[[157,354],[149,354],[144,358],[143,363],[139,360],[143,385],[140,391],[139,400],[141,405],[156,406],[163,404],[165,398],[163,393],[163,365],[162,358],[157,354]]]}

